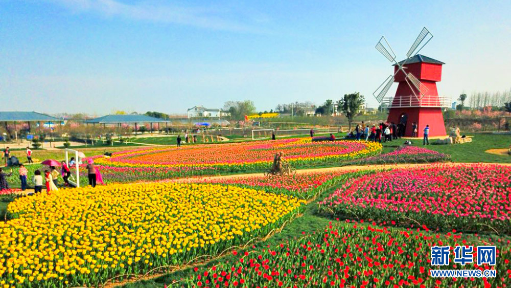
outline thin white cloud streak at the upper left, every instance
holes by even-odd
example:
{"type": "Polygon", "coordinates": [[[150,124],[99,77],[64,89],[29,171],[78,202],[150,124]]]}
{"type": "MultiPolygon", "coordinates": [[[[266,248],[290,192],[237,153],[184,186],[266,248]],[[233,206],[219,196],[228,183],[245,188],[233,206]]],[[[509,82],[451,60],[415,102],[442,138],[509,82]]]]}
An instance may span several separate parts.
{"type": "MultiPolygon", "coordinates": [[[[240,20],[240,15],[231,11],[220,11],[203,7],[179,7],[139,2],[126,4],[115,0],[48,0],[79,13],[97,13],[105,17],[122,17],[133,20],[151,21],[195,26],[212,30],[238,32],[260,32],[253,25],[240,20]]],[[[245,18],[245,17],[241,17],[245,18]]],[[[255,21],[257,22],[257,21],[255,21]]]]}

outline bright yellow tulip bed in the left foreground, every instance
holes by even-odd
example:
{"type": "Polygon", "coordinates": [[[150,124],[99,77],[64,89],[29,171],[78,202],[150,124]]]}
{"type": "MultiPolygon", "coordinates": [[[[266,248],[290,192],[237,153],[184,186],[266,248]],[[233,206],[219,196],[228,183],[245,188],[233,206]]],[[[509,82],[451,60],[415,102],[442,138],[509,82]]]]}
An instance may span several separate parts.
{"type": "Polygon", "coordinates": [[[0,223],[10,286],[97,286],[216,255],[280,227],[304,201],[241,187],[150,183],[17,198],[0,223]],[[12,281],[12,282],[11,282],[12,281]]]}

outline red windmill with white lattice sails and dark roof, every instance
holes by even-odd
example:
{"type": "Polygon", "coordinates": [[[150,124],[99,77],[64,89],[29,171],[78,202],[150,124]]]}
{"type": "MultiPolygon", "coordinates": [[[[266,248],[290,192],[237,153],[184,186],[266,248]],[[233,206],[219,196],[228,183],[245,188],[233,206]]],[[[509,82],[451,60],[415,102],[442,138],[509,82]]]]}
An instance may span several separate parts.
{"type": "Polygon", "coordinates": [[[430,137],[446,136],[442,108],[449,107],[450,99],[438,96],[436,89],[445,63],[418,54],[431,38],[433,35],[424,27],[406,53],[407,58],[400,62],[384,36],[376,45],[376,49],[393,63],[394,73],[373,95],[389,107],[387,122],[405,126],[405,137],[412,136],[412,123],[417,124],[417,137],[423,136],[426,125],[429,125],[430,137]],[[393,82],[399,83],[396,95],[385,97],[393,82]]]}

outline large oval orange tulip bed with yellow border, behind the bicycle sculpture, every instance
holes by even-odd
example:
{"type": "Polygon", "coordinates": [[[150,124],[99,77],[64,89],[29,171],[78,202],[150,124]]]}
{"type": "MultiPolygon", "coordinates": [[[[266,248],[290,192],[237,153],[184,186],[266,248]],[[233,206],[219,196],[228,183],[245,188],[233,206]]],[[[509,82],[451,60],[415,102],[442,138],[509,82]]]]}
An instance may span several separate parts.
{"type": "Polygon", "coordinates": [[[380,143],[312,143],[308,138],[297,138],[137,149],[114,153],[110,159],[98,158],[96,162],[100,165],[121,167],[215,167],[220,171],[249,171],[266,169],[276,152],[283,152],[284,158],[294,166],[313,166],[374,156],[381,149],[380,143]]]}

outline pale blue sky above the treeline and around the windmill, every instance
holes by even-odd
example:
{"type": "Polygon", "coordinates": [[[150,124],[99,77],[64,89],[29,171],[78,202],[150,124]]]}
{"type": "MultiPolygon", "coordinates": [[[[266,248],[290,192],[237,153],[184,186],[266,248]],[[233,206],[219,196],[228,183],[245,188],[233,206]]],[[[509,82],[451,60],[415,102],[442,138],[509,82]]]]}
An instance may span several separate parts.
{"type": "MultiPolygon", "coordinates": [[[[184,114],[372,93],[426,26],[439,93],[511,87],[510,1],[0,0],[2,110],[184,114]]],[[[397,84],[394,84],[393,94],[397,84]]]]}

